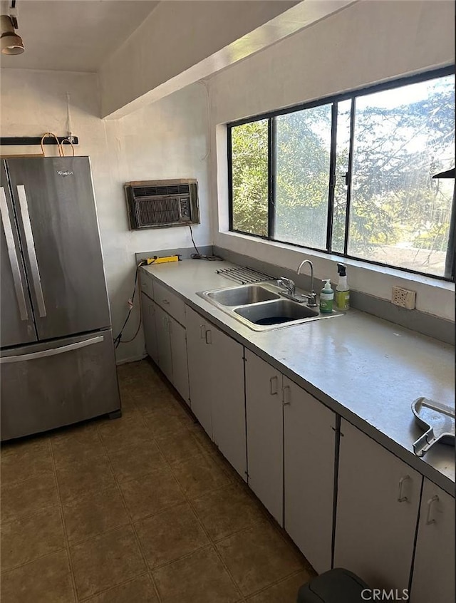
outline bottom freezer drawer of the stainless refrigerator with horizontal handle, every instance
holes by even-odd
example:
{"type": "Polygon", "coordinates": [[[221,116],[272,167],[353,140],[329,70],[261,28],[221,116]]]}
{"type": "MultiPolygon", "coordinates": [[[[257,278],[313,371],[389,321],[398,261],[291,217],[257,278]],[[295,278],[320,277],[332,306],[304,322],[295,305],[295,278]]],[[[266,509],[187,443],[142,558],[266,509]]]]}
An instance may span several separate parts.
{"type": "Polygon", "coordinates": [[[1,440],[120,408],[110,330],[2,351],[1,440]]]}

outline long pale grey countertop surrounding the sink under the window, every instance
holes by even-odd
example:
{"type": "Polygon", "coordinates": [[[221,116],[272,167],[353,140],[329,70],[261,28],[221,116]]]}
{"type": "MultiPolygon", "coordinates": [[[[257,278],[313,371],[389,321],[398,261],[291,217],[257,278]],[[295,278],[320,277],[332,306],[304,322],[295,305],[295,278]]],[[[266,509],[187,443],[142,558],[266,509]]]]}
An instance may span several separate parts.
{"type": "Polygon", "coordinates": [[[413,454],[423,430],[410,406],[425,396],[455,407],[455,349],[355,309],[338,318],[253,331],[197,295],[233,287],[215,272],[232,265],[188,259],[143,269],[454,496],[455,448],[436,444],[424,458],[413,454]]]}

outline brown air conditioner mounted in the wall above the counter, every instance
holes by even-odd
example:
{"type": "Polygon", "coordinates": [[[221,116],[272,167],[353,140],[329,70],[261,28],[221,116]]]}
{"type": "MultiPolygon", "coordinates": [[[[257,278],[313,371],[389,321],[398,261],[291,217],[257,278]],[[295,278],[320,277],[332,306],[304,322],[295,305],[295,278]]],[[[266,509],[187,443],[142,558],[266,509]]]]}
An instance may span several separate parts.
{"type": "Polygon", "coordinates": [[[130,230],[199,224],[198,182],[193,178],[125,182],[130,230]]]}

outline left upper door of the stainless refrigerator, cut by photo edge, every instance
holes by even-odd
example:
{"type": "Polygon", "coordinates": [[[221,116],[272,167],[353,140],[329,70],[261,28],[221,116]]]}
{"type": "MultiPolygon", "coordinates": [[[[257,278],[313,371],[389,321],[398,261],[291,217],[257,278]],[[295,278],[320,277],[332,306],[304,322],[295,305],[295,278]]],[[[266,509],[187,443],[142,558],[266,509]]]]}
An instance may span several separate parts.
{"type": "Polygon", "coordinates": [[[3,161],[0,222],[0,343],[1,346],[19,346],[36,341],[36,331],[3,161]]]}

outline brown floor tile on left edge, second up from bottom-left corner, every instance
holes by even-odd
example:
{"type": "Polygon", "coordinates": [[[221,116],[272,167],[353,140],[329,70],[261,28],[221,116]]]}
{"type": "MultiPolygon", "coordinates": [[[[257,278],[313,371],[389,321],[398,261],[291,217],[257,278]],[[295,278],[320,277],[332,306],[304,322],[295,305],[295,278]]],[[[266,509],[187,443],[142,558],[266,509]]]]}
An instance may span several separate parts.
{"type": "Polygon", "coordinates": [[[60,509],[1,523],[1,571],[22,565],[66,547],[60,509]]]}

